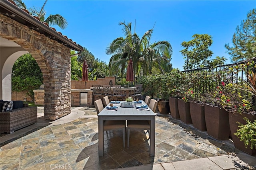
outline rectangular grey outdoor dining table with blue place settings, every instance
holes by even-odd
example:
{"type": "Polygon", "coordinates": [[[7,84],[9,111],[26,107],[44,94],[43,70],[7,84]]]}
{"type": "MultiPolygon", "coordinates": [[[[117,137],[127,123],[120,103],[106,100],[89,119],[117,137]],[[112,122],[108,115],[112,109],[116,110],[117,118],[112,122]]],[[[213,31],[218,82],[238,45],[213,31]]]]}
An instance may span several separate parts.
{"type": "MultiPolygon", "coordinates": [[[[121,101],[125,102],[125,101],[121,101]]],[[[143,101],[145,105],[145,102],[143,101]]],[[[109,104],[108,104],[109,106],[109,104]]],[[[150,156],[155,154],[155,119],[156,114],[149,110],[137,110],[136,107],[126,108],[118,106],[117,111],[106,110],[106,107],[98,114],[98,148],[99,156],[103,156],[104,152],[104,137],[103,137],[103,122],[105,120],[148,120],[150,121],[150,156]]],[[[140,105],[139,105],[140,106],[140,105]]]]}

